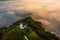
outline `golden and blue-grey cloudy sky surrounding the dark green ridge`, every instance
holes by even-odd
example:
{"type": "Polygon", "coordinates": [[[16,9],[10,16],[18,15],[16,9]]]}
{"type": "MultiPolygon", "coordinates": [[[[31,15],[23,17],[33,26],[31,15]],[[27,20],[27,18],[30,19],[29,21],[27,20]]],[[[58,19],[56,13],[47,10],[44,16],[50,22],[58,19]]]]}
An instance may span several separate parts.
{"type": "Polygon", "coordinates": [[[0,26],[8,26],[29,12],[46,30],[60,36],[60,0],[0,0],[0,26]]]}

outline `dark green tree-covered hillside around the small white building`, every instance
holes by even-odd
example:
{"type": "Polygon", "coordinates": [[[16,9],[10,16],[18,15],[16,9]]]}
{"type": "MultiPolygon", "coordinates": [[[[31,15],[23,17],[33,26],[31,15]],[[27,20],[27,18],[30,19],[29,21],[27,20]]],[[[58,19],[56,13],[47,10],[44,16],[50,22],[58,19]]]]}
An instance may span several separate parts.
{"type": "Polygon", "coordinates": [[[42,23],[32,20],[31,17],[18,20],[9,27],[1,29],[2,40],[25,40],[27,36],[29,40],[60,40],[55,34],[46,32],[42,28],[42,23]],[[27,28],[21,29],[20,23],[26,23],[27,28]]]}

